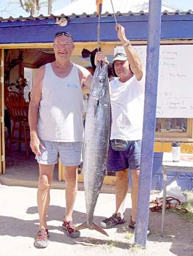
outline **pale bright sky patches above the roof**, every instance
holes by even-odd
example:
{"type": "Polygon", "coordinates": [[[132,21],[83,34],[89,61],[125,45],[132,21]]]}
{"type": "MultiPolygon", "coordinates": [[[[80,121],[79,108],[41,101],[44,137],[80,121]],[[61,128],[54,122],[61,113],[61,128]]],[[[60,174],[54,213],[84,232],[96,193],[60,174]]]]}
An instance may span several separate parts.
{"type": "MultiPolygon", "coordinates": [[[[89,1],[89,0],[88,0],[89,1]]],[[[105,1],[105,0],[104,0],[105,1]]],[[[0,0],[0,17],[2,18],[9,18],[12,17],[19,17],[22,15],[23,17],[28,17],[29,13],[25,12],[19,4],[15,4],[15,2],[19,3],[19,0],[0,0]]],[[[192,10],[193,11],[193,0],[167,0],[169,4],[173,4],[176,7],[179,7],[183,11],[192,10]]],[[[70,0],[56,0],[53,3],[53,10],[55,12],[58,9],[61,9],[65,5],[69,4],[70,0]]],[[[39,15],[48,15],[48,10],[45,7],[42,7],[39,15]]]]}

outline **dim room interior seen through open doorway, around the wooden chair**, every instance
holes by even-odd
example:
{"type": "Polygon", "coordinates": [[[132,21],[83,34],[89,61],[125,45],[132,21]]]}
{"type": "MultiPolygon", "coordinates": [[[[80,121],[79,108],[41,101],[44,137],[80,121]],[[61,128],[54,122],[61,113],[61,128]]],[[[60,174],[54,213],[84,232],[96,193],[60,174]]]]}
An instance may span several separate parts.
{"type": "MultiPolygon", "coordinates": [[[[4,91],[16,91],[23,94],[26,102],[30,100],[30,91],[33,84],[34,76],[37,69],[48,62],[54,61],[54,53],[52,48],[19,48],[4,50],[4,91]],[[23,81],[23,83],[22,83],[23,81]]],[[[72,56],[72,61],[84,67],[91,66],[90,59],[83,59],[81,56],[72,56]]],[[[25,144],[12,143],[10,154],[9,143],[10,133],[12,130],[12,118],[10,117],[6,105],[5,127],[8,130],[7,140],[5,142],[5,162],[6,173],[14,172],[15,176],[20,173],[28,173],[29,177],[33,176],[30,173],[37,173],[38,165],[35,156],[28,144],[29,157],[26,157],[25,144]]],[[[29,133],[27,135],[29,137],[29,133]]],[[[29,143],[29,140],[28,140],[29,143]]],[[[58,166],[56,165],[58,171],[58,166]]],[[[56,171],[56,173],[58,173],[56,171]]],[[[25,175],[26,175],[25,173],[25,175]]]]}

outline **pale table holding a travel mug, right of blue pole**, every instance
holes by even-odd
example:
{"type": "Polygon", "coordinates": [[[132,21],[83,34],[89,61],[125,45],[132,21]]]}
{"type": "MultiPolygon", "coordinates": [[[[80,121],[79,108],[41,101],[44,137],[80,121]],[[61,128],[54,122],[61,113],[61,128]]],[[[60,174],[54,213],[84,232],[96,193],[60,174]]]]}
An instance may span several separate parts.
{"type": "Polygon", "coordinates": [[[173,162],[172,153],[164,152],[162,161],[162,173],[164,178],[163,186],[163,207],[162,207],[162,230],[161,236],[164,236],[164,212],[166,206],[166,187],[175,181],[181,173],[193,173],[193,154],[181,154],[179,162],[173,162]],[[167,172],[177,172],[177,174],[167,181],[167,172]]]}

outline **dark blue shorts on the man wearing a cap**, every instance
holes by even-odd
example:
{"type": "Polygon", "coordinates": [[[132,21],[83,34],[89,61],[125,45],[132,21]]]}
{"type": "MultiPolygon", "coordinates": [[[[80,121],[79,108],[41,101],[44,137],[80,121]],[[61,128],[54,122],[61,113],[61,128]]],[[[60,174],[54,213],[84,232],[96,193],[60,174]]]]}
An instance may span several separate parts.
{"type": "Polygon", "coordinates": [[[115,151],[109,146],[107,171],[118,171],[129,168],[130,170],[140,169],[141,140],[130,140],[125,151],[115,151]]]}

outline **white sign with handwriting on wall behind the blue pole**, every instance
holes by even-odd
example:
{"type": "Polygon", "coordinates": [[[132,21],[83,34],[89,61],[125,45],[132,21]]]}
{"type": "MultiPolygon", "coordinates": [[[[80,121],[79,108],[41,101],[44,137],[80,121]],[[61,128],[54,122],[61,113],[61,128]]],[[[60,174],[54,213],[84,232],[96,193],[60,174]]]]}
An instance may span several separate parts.
{"type": "MultiPolygon", "coordinates": [[[[145,69],[146,46],[135,46],[145,69]]],[[[193,118],[193,45],[160,45],[157,118],[193,118]]]]}

